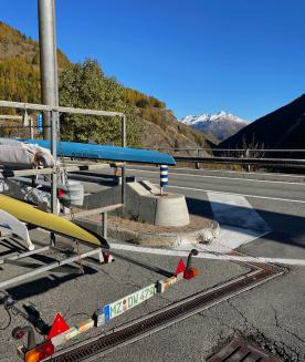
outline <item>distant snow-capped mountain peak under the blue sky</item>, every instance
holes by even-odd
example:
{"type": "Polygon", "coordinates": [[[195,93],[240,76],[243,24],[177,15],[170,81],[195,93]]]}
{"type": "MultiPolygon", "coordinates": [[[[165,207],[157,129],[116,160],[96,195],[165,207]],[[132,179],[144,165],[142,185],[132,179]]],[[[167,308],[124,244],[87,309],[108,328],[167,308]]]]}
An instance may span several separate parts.
{"type": "Polygon", "coordinates": [[[215,114],[187,115],[181,122],[220,141],[230,137],[246,125],[246,121],[224,111],[215,114]]]}

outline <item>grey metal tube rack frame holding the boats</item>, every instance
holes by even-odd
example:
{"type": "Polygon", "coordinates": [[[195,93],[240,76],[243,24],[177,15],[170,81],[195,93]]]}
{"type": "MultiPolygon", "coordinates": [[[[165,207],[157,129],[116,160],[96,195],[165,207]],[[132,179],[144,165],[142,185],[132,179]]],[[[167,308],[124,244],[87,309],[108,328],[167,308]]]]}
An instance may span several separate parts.
{"type": "MultiPolygon", "coordinates": [[[[122,169],[122,203],[116,205],[109,205],[106,207],[99,207],[96,209],[88,209],[76,213],[73,215],[73,218],[82,218],[92,215],[102,215],[102,230],[103,237],[107,237],[107,213],[123,208],[125,205],[125,197],[126,197],[126,174],[125,174],[125,163],[112,163],[112,164],[102,164],[102,163],[84,163],[84,162],[70,162],[64,163],[64,166],[57,165],[57,155],[56,155],[56,142],[57,142],[57,133],[60,132],[59,128],[59,115],[60,113],[70,113],[70,114],[81,114],[81,115],[94,115],[94,116],[106,116],[106,117],[119,117],[120,118],[120,136],[122,136],[122,147],[126,147],[126,115],[119,112],[107,112],[103,110],[86,110],[86,108],[74,108],[74,107],[62,107],[62,106],[51,106],[44,104],[33,104],[33,103],[20,103],[20,102],[10,102],[10,101],[0,101],[0,107],[8,107],[8,108],[17,108],[23,110],[24,113],[30,111],[40,111],[40,112],[48,112],[51,118],[51,153],[54,158],[54,166],[46,167],[43,169],[8,169],[3,168],[0,169],[0,177],[2,178],[11,178],[17,176],[34,176],[34,175],[51,175],[51,207],[52,213],[57,214],[57,175],[62,172],[75,172],[75,170],[92,170],[92,169],[102,169],[105,167],[115,167],[116,169],[119,167],[122,169]]],[[[19,118],[20,120],[20,118],[19,118]]],[[[71,215],[63,216],[66,219],[71,219],[71,215]]],[[[14,240],[13,236],[6,236],[6,239],[14,240]]],[[[50,240],[50,246],[45,246],[42,248],[35,248],[31,251],[21,251],[14,252],[7,256],[3,259],[0,259],[0,265],[6,265],[6,262],[17,261],[30,256],[39,255],[41,252],[45,252],[49,250],[56,250],[56,247],[53,245],[52,238],[50,240]]],[[[61,250],[62,252],[62,250],[61,250]]],[[[93,248],[90,251],[85,251],[82,254],[74,252],[73,256],[69,256],[62,260],[55,260],[54,262],[48,263],[45,266],[41,266],[34,270],[29,272],[19,275],[13,278],[9,278],[7,280],[0,281],[0,288],[8,287],[13,283],[18,283],[24,281],[25,279],[35,277],[42,272],[46,272],[49,270],[62,267],[64,265],[69,265],[72,262],[80,262],[82,259],[97,256],[99,263],[107,262],[105,256],[104,248],[93,248]]]]}

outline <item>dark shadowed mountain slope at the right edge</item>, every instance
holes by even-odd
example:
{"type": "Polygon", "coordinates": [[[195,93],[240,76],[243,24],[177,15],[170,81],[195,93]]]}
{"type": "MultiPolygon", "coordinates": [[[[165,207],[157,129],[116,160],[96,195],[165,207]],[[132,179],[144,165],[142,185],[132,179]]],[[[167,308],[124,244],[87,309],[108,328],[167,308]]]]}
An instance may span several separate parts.
{"type": "Polygon", "coordinates": [[[305,149],[305,94],[223,141],[220,148],[305,149]]]}

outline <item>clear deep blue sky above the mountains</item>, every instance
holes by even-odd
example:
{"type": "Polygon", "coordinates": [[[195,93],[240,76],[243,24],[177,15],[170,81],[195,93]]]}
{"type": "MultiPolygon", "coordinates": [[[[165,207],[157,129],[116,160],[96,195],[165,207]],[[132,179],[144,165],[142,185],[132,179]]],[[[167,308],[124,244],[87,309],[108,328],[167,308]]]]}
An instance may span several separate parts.
{"type": "MultiPolygon", "coordinates": [[[[38,39],[36,0],[1,21],[38,39]]],[[[180,118],[255,120],[305,93],[304,0],[55,0],[57,44],[76,62],[167,103],[180,118]]]]}

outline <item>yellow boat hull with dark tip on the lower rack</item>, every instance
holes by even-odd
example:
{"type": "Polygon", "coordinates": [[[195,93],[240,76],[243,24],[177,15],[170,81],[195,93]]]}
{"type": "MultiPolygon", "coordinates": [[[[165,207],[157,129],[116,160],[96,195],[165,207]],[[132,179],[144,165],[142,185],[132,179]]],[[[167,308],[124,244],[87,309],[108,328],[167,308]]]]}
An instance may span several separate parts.
{"type": "Polygon", "coordinates": [[[107,241],[80,226],[50,213],[44,213],[12,197],[0,195],[0,209],[11,214],[19,220],[35,225],[43,229],[78,239],[88,244],[108,247],[107,241]]]}

